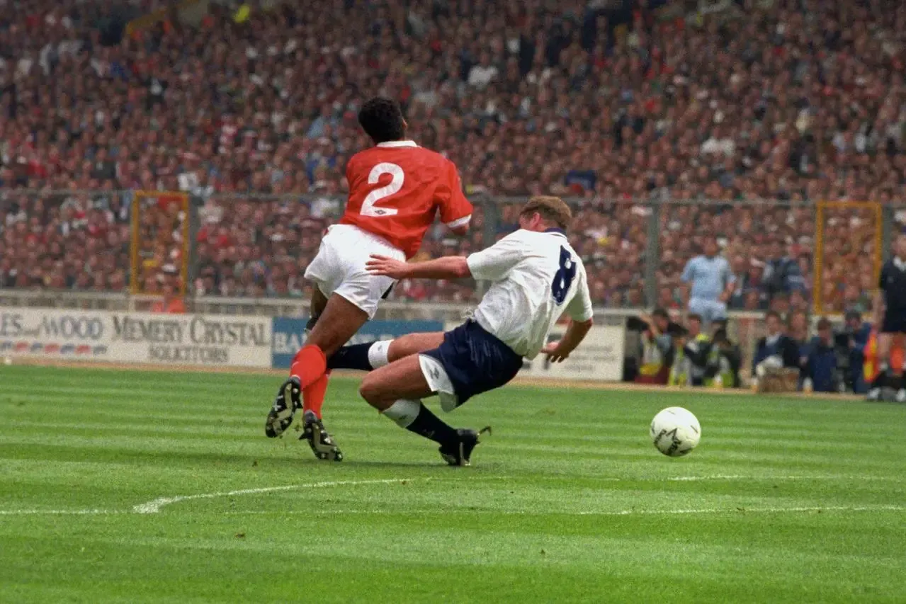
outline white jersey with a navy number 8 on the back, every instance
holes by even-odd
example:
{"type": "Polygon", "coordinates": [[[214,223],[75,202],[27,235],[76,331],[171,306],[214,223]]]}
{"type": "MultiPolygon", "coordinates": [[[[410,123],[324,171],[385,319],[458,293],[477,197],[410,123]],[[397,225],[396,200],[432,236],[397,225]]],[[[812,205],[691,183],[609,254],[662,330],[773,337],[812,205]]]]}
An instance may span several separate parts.
{"type": "Polygon", "coordinates": [[[517,354],[534,359],[564,312],[592,318],[585,267],[564,232],[519,229],[466,260],[472,276],[493,282],[475,319],[517,354]]]}

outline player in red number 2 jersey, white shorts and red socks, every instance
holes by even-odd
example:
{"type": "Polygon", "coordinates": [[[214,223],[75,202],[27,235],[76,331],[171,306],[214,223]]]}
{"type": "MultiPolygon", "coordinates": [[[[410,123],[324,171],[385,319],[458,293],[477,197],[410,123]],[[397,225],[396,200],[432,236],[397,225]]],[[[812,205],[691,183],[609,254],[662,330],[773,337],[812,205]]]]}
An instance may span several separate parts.
{"type": "Polygon", "coordinates": [[[374,317],[395,283],[369,273],[365,264],[371,254],[410,259],[438,214],[457,235],[466,234],[472,216],[456,166],[406,139],[406,120],[395,101],[367,101],[359,123],[375,146],[356,153],[346,167],[346,212],[328,229],[305,270],[305,278],[315,286],[311,331],[265,422],[267,436],[280,436],[303,409],[303,437],[314,455],[336,461],[342,452],[321,417],[330,373],[327,360],[374,317]]]}

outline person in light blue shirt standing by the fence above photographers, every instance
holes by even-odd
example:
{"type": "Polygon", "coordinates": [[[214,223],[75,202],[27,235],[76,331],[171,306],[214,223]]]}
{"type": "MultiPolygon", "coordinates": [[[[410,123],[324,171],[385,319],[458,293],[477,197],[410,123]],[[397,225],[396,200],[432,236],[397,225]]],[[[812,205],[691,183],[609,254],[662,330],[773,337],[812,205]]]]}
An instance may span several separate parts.
{"type": "Polygon", "coordinates": [[[704,254],[689,260],[680,279],[689,284],[689,312],[699,315],[706,324],[727,318],[727,301],[736,275],[727,259],[718,254],[715,237],[705,240],[704,254]]]}

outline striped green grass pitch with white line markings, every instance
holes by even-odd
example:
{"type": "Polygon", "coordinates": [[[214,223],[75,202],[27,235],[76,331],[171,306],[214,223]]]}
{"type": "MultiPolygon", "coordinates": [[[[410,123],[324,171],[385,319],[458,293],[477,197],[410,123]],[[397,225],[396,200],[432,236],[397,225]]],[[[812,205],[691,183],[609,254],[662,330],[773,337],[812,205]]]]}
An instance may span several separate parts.
{"type": "Polygon", "coordinates": [[[0,601],[906,601],[904,406],[505,388],[448,468],[335,379],[336,464],[265,438],[279,381],[0,367],[0,601]]]}

